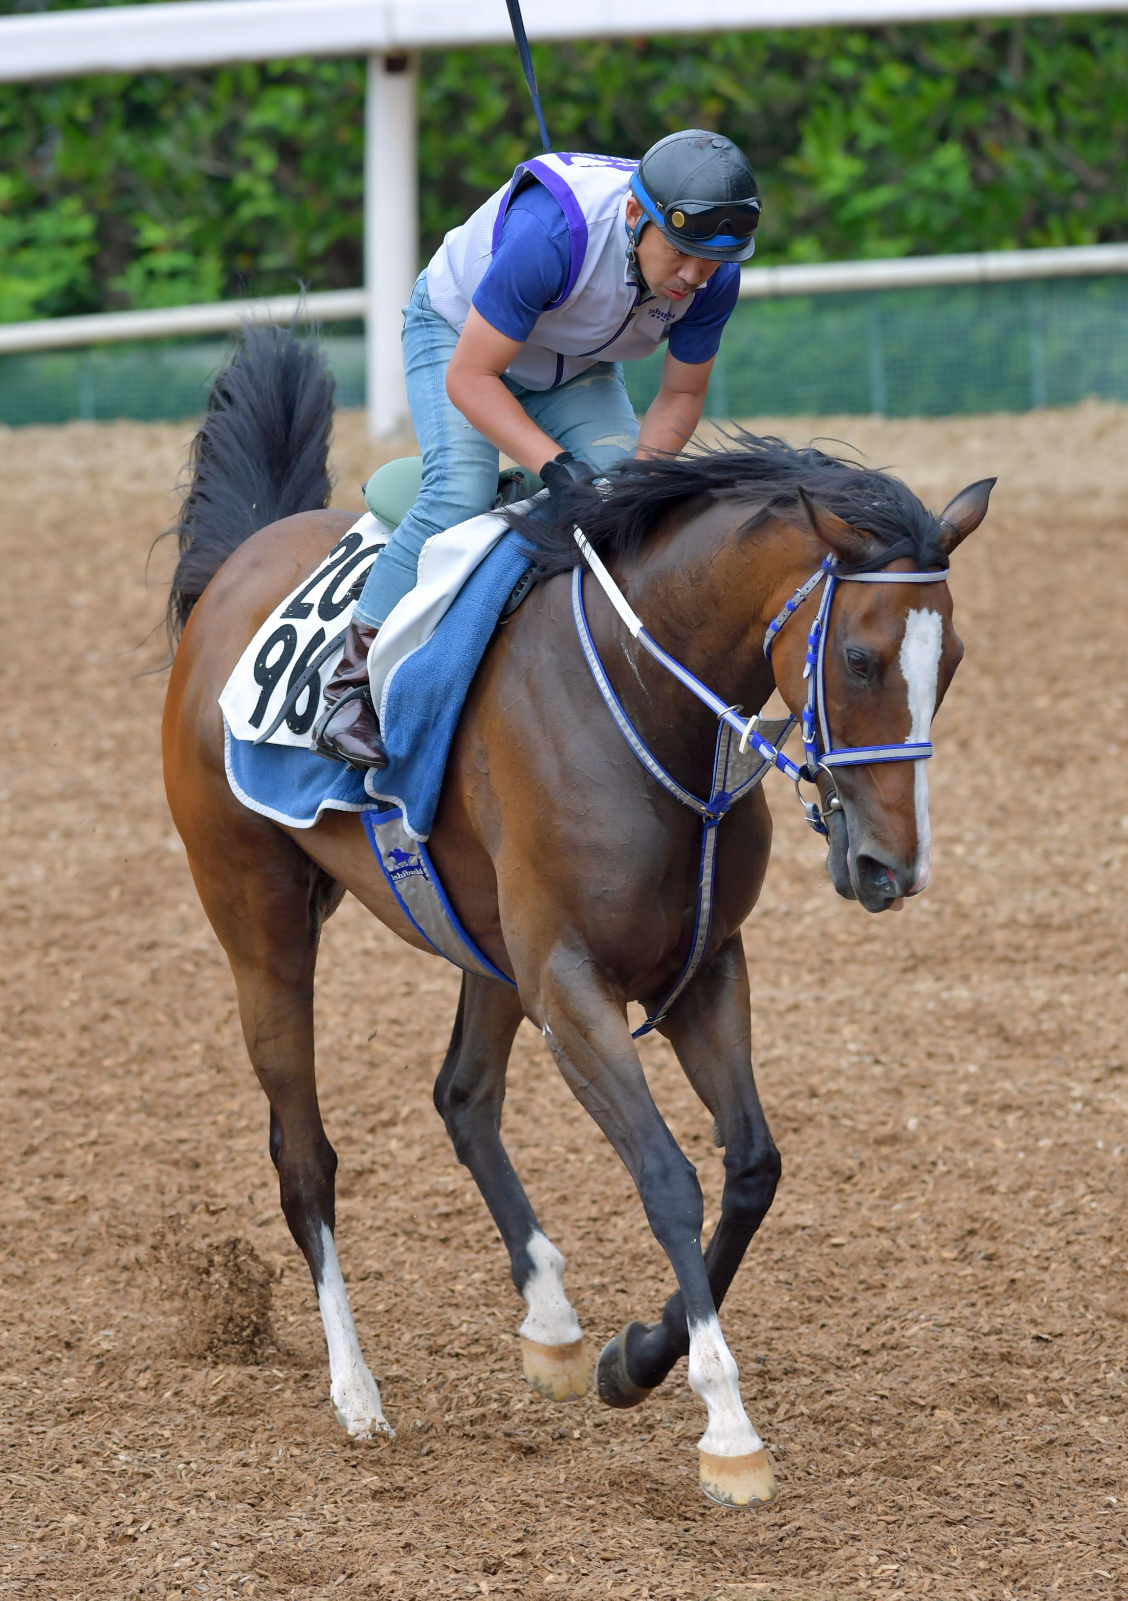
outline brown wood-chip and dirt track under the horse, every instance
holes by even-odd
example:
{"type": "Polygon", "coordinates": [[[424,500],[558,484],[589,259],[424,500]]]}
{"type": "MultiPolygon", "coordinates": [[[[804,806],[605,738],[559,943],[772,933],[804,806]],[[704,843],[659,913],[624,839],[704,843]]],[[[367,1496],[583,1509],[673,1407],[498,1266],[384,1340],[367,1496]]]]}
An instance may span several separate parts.
{"type": "MultiPolygon", "coordinates": [[[[319,970],[338,1244],[394,1444],[328,1407],[266,1101],[163,804],[152,533],[187,431],[0,431],[0,1596],[941,1601],[1128,1595],[1128,413],[777,424],[937,506],[933,887],[840,901],[782,781],[745,943],[784,1182],[724,1305],[769,1511],[710,1507],[684,1364],[617,1414],[521,1380],[521,1305],[431,1108],[458,978],[354,901],[319,970]],[[178,1218],[181,1220],[178,1223],[178,1218]]],[[[338,503],[373,461],[338,427],[338,503]]],[[[700,1164],[668,1047],[655,1095],[700,1164]]],[[[508,1140],[598,1346],[671,1274],[538,1036],[508,1140]]]]}

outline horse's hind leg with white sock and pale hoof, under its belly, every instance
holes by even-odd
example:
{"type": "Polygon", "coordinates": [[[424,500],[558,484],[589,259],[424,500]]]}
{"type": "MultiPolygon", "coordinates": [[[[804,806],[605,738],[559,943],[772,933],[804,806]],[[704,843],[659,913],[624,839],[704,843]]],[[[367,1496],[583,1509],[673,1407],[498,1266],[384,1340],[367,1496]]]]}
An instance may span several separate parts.
{"type": "Polygon", "coordinates": [[[574,1401],[591,1383],[591,1361],[564,1294],[564,1257],[540,1228],[502,1143],[505,1068],[522,1015],[513,989],[469,973],[463,978],[434,1105],[510,1252],[513,1282],[526,1303],[519,1330],[526,1378],[550,1401],[574,1401]]]}

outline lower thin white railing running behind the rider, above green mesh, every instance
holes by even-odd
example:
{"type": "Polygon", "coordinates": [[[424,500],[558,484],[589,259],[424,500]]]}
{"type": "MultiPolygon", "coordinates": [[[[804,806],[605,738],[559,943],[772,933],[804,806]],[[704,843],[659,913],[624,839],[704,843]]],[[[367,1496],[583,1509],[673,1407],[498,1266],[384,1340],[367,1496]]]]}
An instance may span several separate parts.
{"type": "MultiPolygon", "coordinates": [[[[1013,283],[1022,279],[1067,279],[1102,272],[1128,272],[1128,245],[1070,245],[1064,250],[992,250],[961,256],[745,267],[740,274],[740,299],[844,295],[937,283],[1013,283]]],[[[90,317],[51,317],[43,322],[8,322],[0,323],[0,355],[130,339],[229,333],[244,323],[256,322],[362,322],[367,311],[365,290],[325,290],[316,295],[216,301],[212,306],[168,306],[154,311],[107,311],[90,317]]]]}

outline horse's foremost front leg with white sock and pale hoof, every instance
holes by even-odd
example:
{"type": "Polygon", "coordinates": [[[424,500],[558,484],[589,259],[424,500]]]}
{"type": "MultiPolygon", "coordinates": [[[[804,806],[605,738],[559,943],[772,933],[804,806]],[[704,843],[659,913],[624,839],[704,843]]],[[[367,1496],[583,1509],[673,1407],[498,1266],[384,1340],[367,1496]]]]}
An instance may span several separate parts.
{"type": "Polygon", "coordinates": [[[558,949],[542,973],[540,1012],[572,1093],[618,1151],[678,1278],[689,1329],[689,1383],[708,1412],[697,1443],[702,1489],[735,1507],[769,1502],[776,1478],[740,1399],[737,1364],[721,1334],[702,1255],[697,1170],[651,1098],[623,999],[602,981],[590,954],[558,949]]]}

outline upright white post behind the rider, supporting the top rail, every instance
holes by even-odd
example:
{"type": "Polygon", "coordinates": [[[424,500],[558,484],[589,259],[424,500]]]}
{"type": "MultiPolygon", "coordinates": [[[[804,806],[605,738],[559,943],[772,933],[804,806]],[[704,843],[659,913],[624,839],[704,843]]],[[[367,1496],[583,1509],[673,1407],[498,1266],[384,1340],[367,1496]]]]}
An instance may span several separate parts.
{"type": "Polygon", "coordinates": [[[415,59],[369,56],[364,114],[364,323],[369,437],[407,421],[401,312],[418,274],[415,59]]]}

